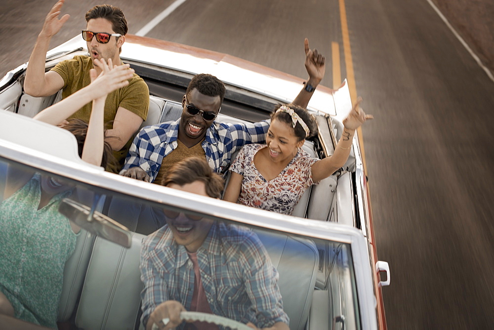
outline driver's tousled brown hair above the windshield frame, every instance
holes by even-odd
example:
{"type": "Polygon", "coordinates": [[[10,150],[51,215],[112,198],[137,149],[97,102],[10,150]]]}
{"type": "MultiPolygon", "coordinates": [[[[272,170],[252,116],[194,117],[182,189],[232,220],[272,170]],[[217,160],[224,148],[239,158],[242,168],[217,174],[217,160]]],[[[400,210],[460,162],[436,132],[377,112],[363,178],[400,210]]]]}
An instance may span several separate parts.
{"type": "Polygon", "coordinates": [[[178,184],[180,186],[193,183],[195,181],[204,182],[206,193],[212,198],[221,198],[223,190],[223,178],[207,165],[206,159],[200,157],[189,157],[173,164],[165,175],[162,184],[178,184]]]}

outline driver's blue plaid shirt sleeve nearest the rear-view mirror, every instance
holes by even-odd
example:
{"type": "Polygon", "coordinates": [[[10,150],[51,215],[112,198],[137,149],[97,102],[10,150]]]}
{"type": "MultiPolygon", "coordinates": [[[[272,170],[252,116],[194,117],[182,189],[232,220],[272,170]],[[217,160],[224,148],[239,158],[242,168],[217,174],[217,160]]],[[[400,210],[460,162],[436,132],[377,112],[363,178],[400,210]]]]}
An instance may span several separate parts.
{"type": "MultiPolygon", "coordinates": [[[[161,236],[160,236],[161,237],[161,236]]],[[[155,308],[162,302],[168,300],[168,288],[162,276],[160,276],[157,262],[160,262],[153,253],[156,246],[157,237],[152,240],[145,239],[141,247],[140,271],[141,281],[144,283],[144,289],[141,292],[142,317],[141,322],[144,328],[149,320],[149,316],[155,308]]]]}

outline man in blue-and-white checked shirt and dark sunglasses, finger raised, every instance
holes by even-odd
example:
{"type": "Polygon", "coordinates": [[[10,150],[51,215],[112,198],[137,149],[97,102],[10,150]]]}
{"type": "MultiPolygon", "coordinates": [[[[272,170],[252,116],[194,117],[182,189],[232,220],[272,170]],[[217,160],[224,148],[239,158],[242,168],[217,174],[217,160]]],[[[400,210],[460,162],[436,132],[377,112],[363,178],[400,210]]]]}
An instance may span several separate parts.
{"type": "MultiPolygon", "coordinates": [[[[309,73],[293,104],[306,108],[315,87],[324,77],[325,57],[305,46],[305,67],[309,73]]],[[[246,144],[265,143],[269,122],[219,123],[214,121],[225,96],[225,85],[210,74],[195,75],[182,98],[178,121],[144,127],[134,139],[121,175],[161,183],[166,171],[181,159],[205,157],[217,173],[225,173],[232,154],[246,144]]]]}

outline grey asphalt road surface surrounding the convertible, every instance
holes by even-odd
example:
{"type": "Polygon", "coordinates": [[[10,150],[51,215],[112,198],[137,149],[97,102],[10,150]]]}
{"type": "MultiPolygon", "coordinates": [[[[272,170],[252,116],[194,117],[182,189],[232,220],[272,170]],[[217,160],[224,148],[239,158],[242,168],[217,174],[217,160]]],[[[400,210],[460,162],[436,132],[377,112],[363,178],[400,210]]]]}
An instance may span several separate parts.
{"type": "MultiPolygon", "coordinates": [[[[28,60],[54,1],[3,0],[0,74],[28,60]]],[[[56,46],[80,33],[99,1],[68,0],[56,46]]],[[[136,33],[171,0],[115,0],[136,33]],[[136,4],[140,3],[140,4],[136,4]]],[[[229,53],[306,77],[303,38],[339,45],[343,0],[187,0],[147,36],[229,53]]],[[[494,326],[494,82],[426,0],[344,2],[363,128],[389,329],[494,326]]]]}

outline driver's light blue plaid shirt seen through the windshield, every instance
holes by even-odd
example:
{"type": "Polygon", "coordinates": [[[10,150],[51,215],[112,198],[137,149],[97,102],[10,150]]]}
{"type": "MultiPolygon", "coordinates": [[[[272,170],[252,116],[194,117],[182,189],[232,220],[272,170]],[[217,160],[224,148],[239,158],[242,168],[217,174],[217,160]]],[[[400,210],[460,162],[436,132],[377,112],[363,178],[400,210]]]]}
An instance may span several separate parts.
{"type": "MultiPolygon", "coordinates": [[[[215,222],[197,251],[201,279],[213,314],[258,328],[288,324],[278,288],[279,274],[257,235],[236,225],[215,222]]],[[[194,268],[183,245],[167,225],[146,237],[141,247],[142,324],[167,300],[190,310],[194,268]]]]}

